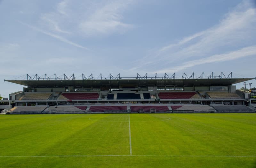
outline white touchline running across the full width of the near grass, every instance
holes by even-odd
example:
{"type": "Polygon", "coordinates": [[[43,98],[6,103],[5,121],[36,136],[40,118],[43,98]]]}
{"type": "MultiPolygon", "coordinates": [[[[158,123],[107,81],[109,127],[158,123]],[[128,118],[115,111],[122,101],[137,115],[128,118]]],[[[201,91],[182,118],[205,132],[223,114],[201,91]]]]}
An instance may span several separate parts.
{"type": "Polygon", "coordinates": [[[224,155],[52,155],[52,156],[0,156],[0,157],[256,157],[256,156],[224,156],[224,155]]]}

